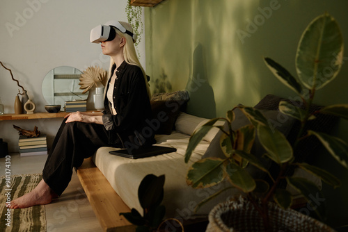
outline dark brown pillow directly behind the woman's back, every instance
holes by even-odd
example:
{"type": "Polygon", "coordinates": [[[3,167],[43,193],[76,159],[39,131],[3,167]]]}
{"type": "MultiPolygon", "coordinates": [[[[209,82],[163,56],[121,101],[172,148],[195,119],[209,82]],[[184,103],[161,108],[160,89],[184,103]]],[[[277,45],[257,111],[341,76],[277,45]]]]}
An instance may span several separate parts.
{"type": "Polygon", "coordinates": [[[185,101],[150,101],[155,134],[170,135],[185,101]]]}

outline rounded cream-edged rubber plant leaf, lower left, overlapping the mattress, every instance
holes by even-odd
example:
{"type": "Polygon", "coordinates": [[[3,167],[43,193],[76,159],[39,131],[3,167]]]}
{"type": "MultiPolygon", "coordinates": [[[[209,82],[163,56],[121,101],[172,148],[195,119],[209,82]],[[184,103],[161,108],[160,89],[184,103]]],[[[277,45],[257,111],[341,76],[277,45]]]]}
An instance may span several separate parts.
{"type": "Polygon", "coordinates": [[[193,188],[207,188],[223,181],[223,163],[221,158],[203,158],[193,163],[186,176],[188,185],[193,188]]]}

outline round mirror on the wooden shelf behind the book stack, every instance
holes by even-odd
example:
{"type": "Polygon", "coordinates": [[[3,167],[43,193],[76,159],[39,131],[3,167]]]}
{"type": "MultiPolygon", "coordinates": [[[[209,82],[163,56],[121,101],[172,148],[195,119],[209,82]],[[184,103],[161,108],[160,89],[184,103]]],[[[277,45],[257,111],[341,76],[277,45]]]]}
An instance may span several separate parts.
{"type": "Polygon", "coordinates": [[[80,90],[79,78],[82,72],[70,66],[55,67],[49,71],[42,81],[42,95],[49,105],[61,105],[64,110],[65,101],[85,100],[88,92],[80,90]]]}

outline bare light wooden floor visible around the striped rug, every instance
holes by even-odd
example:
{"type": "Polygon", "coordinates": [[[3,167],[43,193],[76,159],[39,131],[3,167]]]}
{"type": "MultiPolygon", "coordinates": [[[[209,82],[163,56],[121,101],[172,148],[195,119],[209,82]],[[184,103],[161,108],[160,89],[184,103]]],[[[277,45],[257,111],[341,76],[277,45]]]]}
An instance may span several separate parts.
{"type": "MultiPolygon", "coordinates": [[[[11,175],[42,173],[47,156],[20,157],[11,155],[11,175]]],[[[0,169],[5,167],[5,158],[0,158],[0,169]]],[[[0,174],[3,175],[3,174],[0,174]]],[[[45,206],[47,232],[57,231],[102,231],[93,213],[83,188],[73,172],[72,181],[61,197],[45,206]]]]}

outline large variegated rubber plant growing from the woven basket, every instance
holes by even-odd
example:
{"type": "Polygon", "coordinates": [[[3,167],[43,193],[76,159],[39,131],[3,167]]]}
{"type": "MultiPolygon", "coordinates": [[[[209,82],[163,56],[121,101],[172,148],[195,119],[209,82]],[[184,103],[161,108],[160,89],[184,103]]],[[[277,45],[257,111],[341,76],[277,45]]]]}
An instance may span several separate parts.
{"type": "MultiPolygon", "coordinates": [[[[193,163],[187,174],[187,183],[192,185],[193,188],[206,188],[216,185],[224,179],[228,179],[232,184],[230,188],[238,188],[246,194],[247,199],[253,203],[264,219],[265,226],[269,226],[267,213],[269,201],[275,201],[276,204],[285,209],[290,208],[292,205],[292,195],[290,192],[283,188],[278,188],[281,180],[285,179],[288,185],[299,190],[308,201],[310,201],[309,196],[311,193],[319,192],[317,185],[307,179],[286,176],[285,169],[287,167],[299,167],[318,176],[325,183],[333,185],[333,188],[338,187],[340,180],[324,169],[309,165],[308,163],[295,163],[294,151],[296,151],[298,143],[301,140],[305,140],[309,136],[315,136],[327,151],[329,151],[329,154],[343,167],[347,168],[348,145],[345,141],[326,133],[305,131],[306,123],[314,119],[317,113],[335,115],[343,119],[348,119],[348,104],[326,106],[315,113],[310,113],[309,110],[313,103],[315,92],[323,88],[337,76],[342,65],[342,58],[342,33],[340,32],[338,23],[329,14],[316,17],[310,22],[301,36],[296,51],[296,72],[298,78],[294,78],[287,69],[271,58],[264,58],[264,63],[276,78],[288,88],[294,90],[301,97],[304,106],[306,106],[306,109],[303,110],[292,106],[287,101],[280,101],[279,103],[281,113],[294,117],[301,122],[301,129],[296,141],[290,144],[282,133],[277,130],[274,131],[259,110],[252,107],[237,106],[251,121],[250,125],[244,126],[237,131],[232,131],[231,123],[235,119],[235,115],[233,110],[229,110],[226,117],[210,119],[209,122],[191,135],[185,154],[186,163],[189,161],[197,144],[213,127],[218,127],[223,131],[220,144],[226,158],[203,158],[193,163]],[[223,126],[214,126],[218,120],[226,121],[228,130],[224,129],[223,126]],[[255,135],[258,136],[262,147],[267,151],[265,155],[279,165],[280,171],[278,176],[273,178],[260,160],[250,154],[255,135]],[[244,169],[246,163],[250,163],[266,172],[272,180],[271,185],[265,181],[253,179],[246,172],[246,169],[244,169]],[[221,175],[221,172],[223,175],[221,175]],[[256,194],[260,190],[260,186],[264,186],[265,191],[263,194],[256,194]]],[[[201,204],[212,199],[212,197],[215,197],[220,192],[205,199],[201,204]]],[[[313,208],[317,208],[320,211],[319,207],[313,208]]]]}

